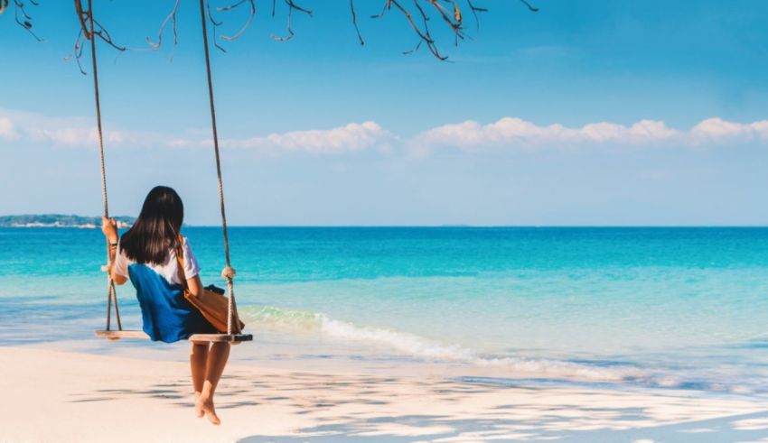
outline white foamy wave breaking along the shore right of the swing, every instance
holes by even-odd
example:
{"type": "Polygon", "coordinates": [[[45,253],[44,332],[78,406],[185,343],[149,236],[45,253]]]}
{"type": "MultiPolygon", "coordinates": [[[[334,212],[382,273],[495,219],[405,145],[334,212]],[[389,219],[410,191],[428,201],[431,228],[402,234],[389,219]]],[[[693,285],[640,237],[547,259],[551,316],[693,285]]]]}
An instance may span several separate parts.
{"type": "MultiPolygon", "coordinates": [[[[446,344],[390,328],[356,325],[321,312],[281,309],[272,306],[246,307],[240,314],[250,328],[289,334],[310,334],[346,343],[365,346],[373,355],[396,353],[416,361],[467,365],[470,373],[483,369],[502,378],[474,377],[480,383],[516,383],[529,379],[562,381],[565,383],[622,383],[653,389],[680,389],[731,394],[760,394],[766,392],[763,379],[738,383],[724,374],[680,371],[670,367],[646,367],[641,362],[590,362],[588,360],[560,360],[530,358],[520,355],[483,355],[465,346],[446,344]]],[[[733,378],[733,377],[731,377],[733,378]]]]}

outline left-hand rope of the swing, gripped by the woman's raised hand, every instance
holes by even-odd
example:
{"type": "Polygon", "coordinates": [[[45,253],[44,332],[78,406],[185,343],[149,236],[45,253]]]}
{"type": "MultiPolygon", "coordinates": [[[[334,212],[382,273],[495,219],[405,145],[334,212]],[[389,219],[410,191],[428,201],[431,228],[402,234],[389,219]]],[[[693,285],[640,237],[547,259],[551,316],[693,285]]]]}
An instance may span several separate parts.
{"type": "MultiPolygon", "coordinates": [[[[82,19],[82,17],[80,17],[82,19]]],[[[90,32],[86,32],[86,38],[90,40],[90,60],[93,67],[93,91],[96,99],[96,125],[98,130],[98,158],[101,165],[101,200],[104,204],[104,217],[109,217],[109,203],[107,198],[107,168],[104,162],[104,136],[101,130],[101,103],[98,99],[98,65],[96,62],[96,34],[93,27],[93,0],[88,0],[88,23],[90,32]]],[[[107,330],[110,328],[112,317],[112,301],[115,302],[115,318],[117,319],[117,329],[123,330],[120,321],[120,309],[117,308],[117,291],[115,290],[115,281],[112,281],[109,257],[109,240],[107,240],[107,264],[103,270],[107,272],[107,330]]]]}

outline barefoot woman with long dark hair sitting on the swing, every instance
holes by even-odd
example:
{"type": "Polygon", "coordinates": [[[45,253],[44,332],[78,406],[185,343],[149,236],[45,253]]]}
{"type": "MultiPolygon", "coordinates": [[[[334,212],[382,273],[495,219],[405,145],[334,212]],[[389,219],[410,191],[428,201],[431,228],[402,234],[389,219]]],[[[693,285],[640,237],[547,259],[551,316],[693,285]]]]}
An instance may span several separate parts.
{"type": "MultiPolygon", "coordinates": [[[[117,284],[128,279],[136,287],[144,331],[153,340],[173,343],[192,334],[216,333],[201,313],[184,298],[176,250],[183,251],[183,275],[190,292],[202,291],[200,267],[186,237],[179,235],[184,218],[182,198],[175,190],[157,186],[149,191],[133,227],[117,239],[114,218],[102,220],[109,243],[109,272],[117,284]],[[179,245],[181,243],[181,245],[179,245]]],[[[190,366],[195,413],[220,424],[213,393],[229,357],[229,343],[192,342],[190,366]]]]}

